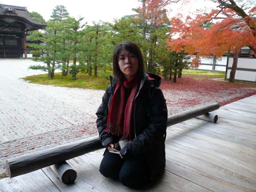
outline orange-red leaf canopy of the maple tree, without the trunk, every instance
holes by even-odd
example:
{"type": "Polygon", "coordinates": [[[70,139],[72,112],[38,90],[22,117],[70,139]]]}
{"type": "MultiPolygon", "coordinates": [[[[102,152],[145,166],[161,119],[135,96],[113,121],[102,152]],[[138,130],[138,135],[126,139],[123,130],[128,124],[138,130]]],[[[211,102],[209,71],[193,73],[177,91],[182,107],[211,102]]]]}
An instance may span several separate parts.
{"type": "MultiPolygon", "coordinates": [[[[216,17],[218,13],[219,10],[213,10],[208,15],[197,15],[195,19],[187,17],[185,22],[180,18],[172,18],[171,33],[179,37],[168,40],[171,50],[176,52],[185,50],[190,55],[197,53],[199,56],[221,57],[227,51],[239,52],[243,46],[256,47],[253,30],[244,20],[237,18],[236,13],[231,9],[222,11],[222,14],[229,15],[227,18],[219,19],[210,28],[205,28],[204,24],[216,17]],[[238,30],[234,30],[234,27],[238,30]]],[[[253,19],[250,19],[250,23],[255,25],[253,19]]]]}

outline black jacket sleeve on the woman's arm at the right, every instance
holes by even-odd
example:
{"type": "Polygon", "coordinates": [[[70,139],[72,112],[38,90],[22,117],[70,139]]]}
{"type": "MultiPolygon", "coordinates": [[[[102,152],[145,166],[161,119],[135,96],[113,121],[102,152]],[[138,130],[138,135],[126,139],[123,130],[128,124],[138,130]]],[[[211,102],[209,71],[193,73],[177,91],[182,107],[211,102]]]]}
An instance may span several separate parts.
{"type": "Polygon", "coordinates": [[[158,88],[150,98],[148,111],[147,127],[120,151],[124,158],[146,153],[153,147],[157,149],[156,144],[164,140],[167,127],[167,106],[163,93],[158,88]]]}

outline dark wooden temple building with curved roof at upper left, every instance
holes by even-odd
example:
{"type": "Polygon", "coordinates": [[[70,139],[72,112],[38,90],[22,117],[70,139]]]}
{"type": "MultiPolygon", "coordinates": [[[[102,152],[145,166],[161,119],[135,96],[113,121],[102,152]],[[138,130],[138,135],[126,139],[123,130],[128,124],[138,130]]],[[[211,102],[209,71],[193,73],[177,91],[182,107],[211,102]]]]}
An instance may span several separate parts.
{"type": "Polygon", "coordinates": [[[0,58],[26,58],[28,31],[45,27],[31,20],[26,7],[0,4],[0,58]]]}

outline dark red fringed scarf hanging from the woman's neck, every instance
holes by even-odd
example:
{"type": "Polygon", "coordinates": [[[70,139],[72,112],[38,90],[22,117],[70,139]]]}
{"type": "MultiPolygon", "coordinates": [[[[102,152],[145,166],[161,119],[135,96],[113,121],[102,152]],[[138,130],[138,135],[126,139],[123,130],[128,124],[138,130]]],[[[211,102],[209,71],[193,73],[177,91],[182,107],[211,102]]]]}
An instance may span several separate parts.
{"type": "Polygon", "coordinates": [[[131,140],[131,130],[133,127],[134,100],[138,93],[139,81],[137,76],[130,81],[118,82],[110,103],[108,121],[106,122],[106,132],[122,136],[121,139],[131,140]],[[131,94],[125,103],[125,88],[132,88],[131,94]]]}

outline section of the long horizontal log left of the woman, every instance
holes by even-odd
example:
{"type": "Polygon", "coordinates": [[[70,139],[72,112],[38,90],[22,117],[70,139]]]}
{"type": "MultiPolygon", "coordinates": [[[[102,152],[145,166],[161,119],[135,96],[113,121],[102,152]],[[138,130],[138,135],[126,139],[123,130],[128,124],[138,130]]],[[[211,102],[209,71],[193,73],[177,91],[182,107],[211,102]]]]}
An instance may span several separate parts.
{"type": "Polygon", "coordinates": [[[13,178],[99,150],[100,148],[103,148],[103,146],[99,141],[99,137],[95,136],[8,159],[6,160],[6,168],[9,177],[13,178]]]}

